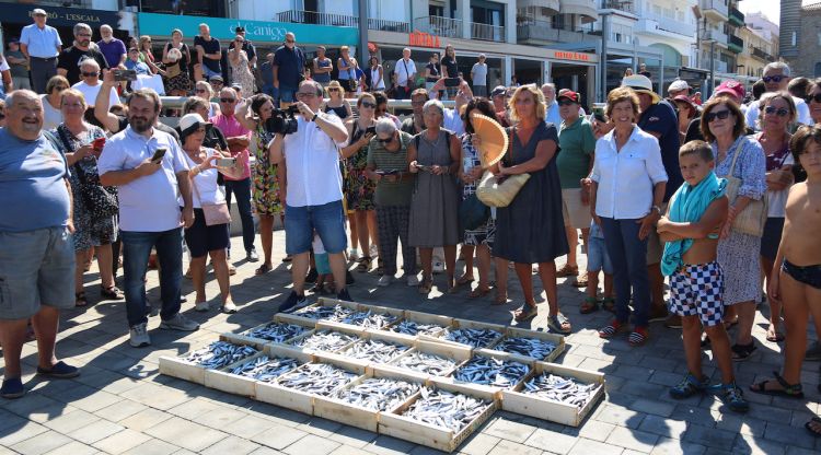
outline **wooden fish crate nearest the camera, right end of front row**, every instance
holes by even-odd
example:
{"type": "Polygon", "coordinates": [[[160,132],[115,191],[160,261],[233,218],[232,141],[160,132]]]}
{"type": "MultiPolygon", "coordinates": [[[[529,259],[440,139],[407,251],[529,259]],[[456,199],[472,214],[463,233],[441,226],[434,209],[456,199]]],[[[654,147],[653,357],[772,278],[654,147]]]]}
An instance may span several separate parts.
{"type": "Polygon", "coordinates": [[[412,399],[402,405],[393,412],[384,412],[379,416],[379,433],[401,440],[410,441],[416,444],[425,445],[443,452],[453,452],[459,447],[477,428],[479,428],[496,409],[499,408],[498,393],[479,390],[474,387],[463,385],[442,383],[439,380],[431,380],[430,385],[435,388],[460,393],[475,398],[490,401],[490,406],[482,412],[471,423],[465,425],[459,432],[420,422],[418,420],[402,416],[420,396],[416,394],[412,399]]]}

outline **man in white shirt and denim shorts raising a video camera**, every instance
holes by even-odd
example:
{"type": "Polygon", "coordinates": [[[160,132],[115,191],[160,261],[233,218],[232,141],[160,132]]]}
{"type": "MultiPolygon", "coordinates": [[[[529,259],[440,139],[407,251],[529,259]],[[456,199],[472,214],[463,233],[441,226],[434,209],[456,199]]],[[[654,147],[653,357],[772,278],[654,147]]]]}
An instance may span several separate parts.
{"type": "Polygon", "coordinates": [[[279,306],[288,311],[305,301],[304,283],[314,231],[328,254],[337,299],[350,301],[345,288],[345,213],[337,147],[348,140],[345,125],[320,110],[322,85],[302,81],[297,90],[297,131],[276,132],[268,144],[270,161],[287,166],[285,245],[293,258],[293,291],[279,306]]]}

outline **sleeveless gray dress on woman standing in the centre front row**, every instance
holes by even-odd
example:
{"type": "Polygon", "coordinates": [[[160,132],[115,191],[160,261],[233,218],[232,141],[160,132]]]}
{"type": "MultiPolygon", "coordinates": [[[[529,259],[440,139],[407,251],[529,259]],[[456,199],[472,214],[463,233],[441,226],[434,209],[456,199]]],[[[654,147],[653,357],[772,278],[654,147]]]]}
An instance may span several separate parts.
{"type": "MultiPolygon", "coordinates": [[[[446,130],[439,131],[433,141],[425,138],[425,131],[412,143],[417,144],[416,162],[426,166],[452,164],[450,143],[446,130]]],[[[408,244],[417,247],[456,245],[460,242],[459,200],[461,198],[455,176],[433,175],[419,171],[416,175],[410,199],[410,229],[408,244]]]]}

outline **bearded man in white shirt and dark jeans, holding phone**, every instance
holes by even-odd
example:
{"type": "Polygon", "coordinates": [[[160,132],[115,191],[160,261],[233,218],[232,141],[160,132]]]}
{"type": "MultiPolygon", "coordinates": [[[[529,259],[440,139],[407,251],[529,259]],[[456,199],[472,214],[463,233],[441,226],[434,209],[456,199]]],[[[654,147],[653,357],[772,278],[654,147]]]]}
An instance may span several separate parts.
{"type": "Polygon", "coordinates": [[[151,343],[143,280],[152,247],[162,264],[160,328],[184,331],[199,328],[180,314],[181,229],[194,223],[188,164],[176,140],[153,127],[159,115],[157,92],[135,91],[128,100],[128,127],[106,141],[97,162],[100,183],[119,189],[126,313],[129,343],[135,348],[151,343]]]}

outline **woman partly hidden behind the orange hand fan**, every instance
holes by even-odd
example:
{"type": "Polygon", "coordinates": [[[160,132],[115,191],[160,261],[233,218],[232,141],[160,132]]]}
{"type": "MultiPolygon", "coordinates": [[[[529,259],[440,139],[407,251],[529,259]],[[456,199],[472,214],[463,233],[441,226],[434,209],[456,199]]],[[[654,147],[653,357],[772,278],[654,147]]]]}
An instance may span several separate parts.
{"type": "MultiPolygon", "coordinates": [[[[485,115],[496,119],[494,106],[486,98],[473,98],[464,108],[462,121],[464,121],[465,133],[462,135],[462,166],[459,170],[459,179],[462,180],[462,200],[467,199],[476,192],[476,186],[484,170],[476,148],[473,145],[472,138],[475,133],[471,114],[485,115]]],[[[490,292],[490,249],[493,248],[494,237],[496,236],[496,209],[490,209],[490,218],[487,222],[476,229],[465,230],[462,255],[464,256],[464,276],[456,284],[469,284],[473,282],[473,253],[476,252],[478,265],[479,281],[476,289],[467,294],[471,299],[483,298],[490,292]]],[[[501,303],[505,303],[504,301],[501,303]]]]}

